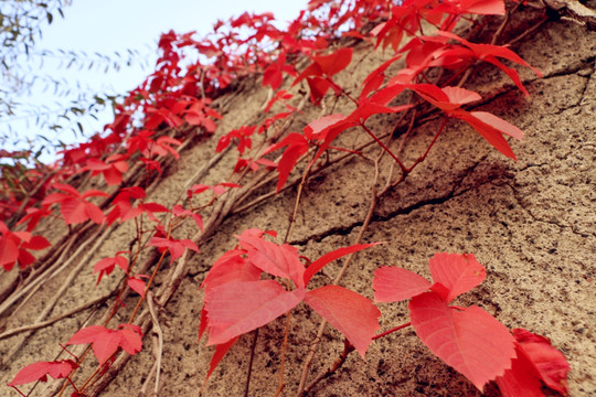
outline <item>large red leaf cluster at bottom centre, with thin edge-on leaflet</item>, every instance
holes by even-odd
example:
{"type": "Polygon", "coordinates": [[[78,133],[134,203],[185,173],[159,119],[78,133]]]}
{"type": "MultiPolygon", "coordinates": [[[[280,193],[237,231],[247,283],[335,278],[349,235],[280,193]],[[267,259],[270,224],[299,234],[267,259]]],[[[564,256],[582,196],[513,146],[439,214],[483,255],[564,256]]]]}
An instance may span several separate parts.
{"type": "Polygon", "coordinates": [[[246,230],[238,236],[240,247],[217,259],[203,281],[205,304],[200,335],[209,333],[207,344],[219,345],[209,374],[240,335],[269,323],[301,301],[364,355],[379,329],[380,312],[374,304],[343,287],[307,290],[306,286],[331,261],[374,244],[340,248],[305,269],[295,247],[267,242],[263,235],[260,230],[246,230]],[[295,289],[288,291],[276,280],[260,280],[263,272],[291,280],[295,289]]]}

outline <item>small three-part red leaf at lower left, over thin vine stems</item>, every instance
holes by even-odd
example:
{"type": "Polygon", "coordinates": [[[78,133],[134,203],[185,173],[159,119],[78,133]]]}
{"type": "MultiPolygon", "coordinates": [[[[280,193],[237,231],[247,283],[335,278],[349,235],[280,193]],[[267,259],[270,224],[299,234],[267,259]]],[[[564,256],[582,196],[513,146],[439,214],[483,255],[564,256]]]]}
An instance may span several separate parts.
{"type": "Polygon", "coordinates": [[[92,325],[76,332],[66,344],[93,344],[93,353],[99,365],[103,365],[121,347],[128,354],[137,354],[142,347],[140,328],[132,324],[121,324],[118,330],[92,325]]]}

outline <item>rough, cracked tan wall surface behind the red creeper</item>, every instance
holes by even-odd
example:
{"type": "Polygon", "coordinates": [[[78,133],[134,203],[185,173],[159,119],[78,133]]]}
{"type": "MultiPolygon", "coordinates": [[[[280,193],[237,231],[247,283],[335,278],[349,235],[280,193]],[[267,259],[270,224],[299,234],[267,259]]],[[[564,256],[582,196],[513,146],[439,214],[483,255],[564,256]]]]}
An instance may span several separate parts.
{"type": "MultiPolygon", "coordinates": [[[[515,36],[526,28],[520,21],[509,34],[515,36]]],[[[473,253],[487,267],[487,280],[458,303],[481,305],[508,328],[525,328],[550,337],[571,363],[571,396],[596,395],[596,33],[568,22],[547,22],[517,43],[514,50],[544,74],[538,78],[529,69],[520,71],[530,98],[524,98],[492,66],[480,65],[468,86],[485,98],[478,109],[493,112],[524,131],[522,142],[512,142],[519,161],[502,157],[468,126],[449,121],[428,158],[405,183],[381,197],[364,242],[385,244],[359,254],[343,285],[372,298],[372,272],[379,266],[397,265],[428,277],[428,258],[435,253],[473,253]]],[[[359,44],[354,61],[340,77],[344,86],[359,89],[352,82],[360,82],[382,58],[382,53],[359,44]]],[[[247,83],[244,89],[222,98],[220,110],[224,119],[217,136],[262,120],[266,99],[267,92],[257,83],[247,83]]],[[[331,106],[329,100],[328,107],[331,106]]],[[[348,109],[349,104],[339,101],[334,111],[343,108],[348,109]]],[[[292,121],[291,129],[300,130],[320,111],[307,106],[292,121]]],[[[380,132],[392,128],[386,118],[372,125],[380,132]]],[[[437,128],[438,121],[433,118],[416,127],[402,150],[406,163],[422,154],[437,128]]],[[[398,138],[393,141],[395,150],[398,138]]],[[[169,175],[153,189],[151,198],[173,204],[189,179],[211,157],[215,141],[198,141],[185,150],[169,175]]],[[[366,137],[353,131],[338,146],[358,147],[365,141],[366,137]]],[[[290,242],[302,255],[317,258],[355,240],[369,208],[374,171],[370,159],[376,157],[377,149],[369,148],[364,153],[369,160],[350,158],[309,179],[290,242]]],[[[233,163],[231,154],[228,165],[233,163]]],[[[220,182],[230,167],[207,175],[202,183],[220,182]]],[[[383,159],[382,169],[390,167],[389,159],[383,159]]],[[[274,184],[275,181],[262,193],[274,184]]],[[[210,265],[234,247],[234,235],[245,228],[276,229],[283,234],[295,193],[295,189],[287,190],[233,215],[201,247],[201,255],[192,257],[189,276],[170,304],[159,312],[164,342],[160,396],[196,396],[205,377],[212,350],[204,346],[204,341],[196,342],[196,330],[202,304],[199,286],[210,265]]],[[[194,232],[189,228],[188,233],[194,232]]],[[[129,235],[125,226],[116,228],[88,264],[126,249],[129,235]]],[[[313,286],[328,283],[340,265],[328,266],[324,273],[316,276],[313,286]]],[[[49,280],[10,320],[8,328],[31,323],[65,277],[49,280]]],[[[95,280],[88,267],[83,269],[53,315],[99,297],[114,286],[103,283],[96,289],[95,280]]],[[[383,330],[408,321],[405,303],[380,304],[380,309],[383,330]]],[[[98,311],[102,310],[105,308],[98,311]]],[[[92,314],[83,311],[35,332],[2,371],[0,380],[7,383],[18,368],[31,362],[53,360],[60,352],[57,342],[65,342],[92,314]]],[[[304,305],[291,318],[285,363],[286,391],[290,395],[298,385],[301,362],[319,322],[304,305]]],[[[277,389],[283,329],[284,321],[279,319],[259,333],[251,384],[253,396],[273,396],[277,389]]],[[[20,337],[1,340],[0,354],[7,354],[20,337]]],[[[339,333],[328,328],[312,374],[336,360],[343,348],[340,341],[339,333]]],[[[241,337],[212,375],[206,396],[243,395],[252,342],[251,335],[241,337]]],[[[145,339],[143,351],[131,358],[103,396],[138,394],[155,362],[155,343],[151,335],[145,339]]],[[[10,393],[4,388],[0,394],[10,393]]],[[[486,394],[494,395],[496,390],[489,387],[486,394]]],[[[36,387],[33,395],[43,396],[43,386],[36,387]]],[[[436,358],[412,329],[406,329],[375,342],[364,361],[351,355],[311,395],[481,394],[436,358]]]]}

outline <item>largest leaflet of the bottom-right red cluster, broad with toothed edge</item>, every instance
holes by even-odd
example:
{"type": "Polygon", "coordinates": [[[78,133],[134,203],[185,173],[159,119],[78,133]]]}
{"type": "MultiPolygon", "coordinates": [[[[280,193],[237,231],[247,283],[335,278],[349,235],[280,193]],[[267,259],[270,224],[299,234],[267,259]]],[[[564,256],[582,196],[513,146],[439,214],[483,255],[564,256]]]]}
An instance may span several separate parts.
{"type": "Polygon", "coordinates": [[[412,325],[424,344],[478,389],[511,367],[515,340],[483,309],[450,308],[435,292],[414,297],[408,308],[412,325]]]}

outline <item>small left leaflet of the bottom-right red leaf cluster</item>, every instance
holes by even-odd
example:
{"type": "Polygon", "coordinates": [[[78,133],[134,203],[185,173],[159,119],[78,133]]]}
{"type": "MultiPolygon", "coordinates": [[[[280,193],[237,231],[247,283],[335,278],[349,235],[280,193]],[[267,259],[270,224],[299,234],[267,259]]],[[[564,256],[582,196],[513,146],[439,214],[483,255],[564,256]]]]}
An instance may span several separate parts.
{"type": "Polygon", "coordinates": [[[409,270],[383,266],[374,271],[375,302],[398,302],[428,291],[430,282],[409,270]]]}

